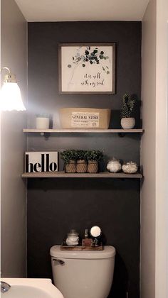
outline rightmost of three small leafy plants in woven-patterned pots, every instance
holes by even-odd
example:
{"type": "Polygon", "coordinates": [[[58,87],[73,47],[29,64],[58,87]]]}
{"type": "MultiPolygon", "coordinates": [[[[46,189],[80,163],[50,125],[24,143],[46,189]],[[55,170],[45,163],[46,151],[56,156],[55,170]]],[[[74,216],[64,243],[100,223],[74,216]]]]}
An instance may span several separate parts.
{"type": "Polygon", "coordinates": [[[98,172],[98,162],[103,160],[103,152],[100,150],[90,150],[87,152],[88,173],[98,172]]]}

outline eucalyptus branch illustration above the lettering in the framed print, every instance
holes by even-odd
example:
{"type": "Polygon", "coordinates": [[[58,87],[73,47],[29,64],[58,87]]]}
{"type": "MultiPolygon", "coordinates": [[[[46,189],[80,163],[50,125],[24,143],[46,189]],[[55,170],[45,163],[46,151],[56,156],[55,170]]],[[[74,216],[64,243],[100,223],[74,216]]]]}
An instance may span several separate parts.
{"type": "Polygon", "coordinates": [[[110,74],[110,70],[107,65],[101,66],[101,62],[103,60],[109,60],[110,62],[110,58],[107,55],[105,55],[105,52],[103,50],[99,50],[98,48],[93,48],[93,50],[91,50],[90,46],[87,46],[85,48],[85,52],[81,54],[80,53],[81,49],[82,47],[76,50],[77,51],[76,55],[72,57],[72,64],[68,64],[68,68],[71,68],[72,65],[74,65],[72,76],[70,78],[70,82],[68,83],[68,87],[70,86],[70,84],[72,84],[71,82],[73,80],[73,75],[75,74],[75,70],[80,65],[82,65],[82,67],[85,67],[88,63],[90,63],[90,65],[95,65],[95,64],[100,65],[100,67],[102,67],[103,72],[106,75],[110,74]]]}

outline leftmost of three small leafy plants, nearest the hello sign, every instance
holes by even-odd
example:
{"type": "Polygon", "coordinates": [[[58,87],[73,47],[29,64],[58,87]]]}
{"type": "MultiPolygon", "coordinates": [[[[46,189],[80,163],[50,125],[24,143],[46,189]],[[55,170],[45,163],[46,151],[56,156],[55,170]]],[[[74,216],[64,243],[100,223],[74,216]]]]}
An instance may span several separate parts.
{"type": "Polygon", "coordinates": [[[64,161],[65,172],[75,173],[77,160],[76,150],[63,150],[63,152],[61,152],[61,158],[64,161]]]}

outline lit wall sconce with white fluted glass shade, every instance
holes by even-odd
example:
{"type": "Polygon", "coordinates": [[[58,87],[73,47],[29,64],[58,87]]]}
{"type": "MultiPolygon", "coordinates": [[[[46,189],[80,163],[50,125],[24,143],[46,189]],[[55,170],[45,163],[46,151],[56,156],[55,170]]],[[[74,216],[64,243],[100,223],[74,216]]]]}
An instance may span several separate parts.
{"type": "Polygon", "coordinates": [[[21,99],[21,91],[16,82],[16,76],[11,74],[8,67],[2,67],[2,70],[7,70],[8,74],[4,76],[4,84],[1,87],[0,93],[0,110],[1,111],[25,111],[21,99]]]}

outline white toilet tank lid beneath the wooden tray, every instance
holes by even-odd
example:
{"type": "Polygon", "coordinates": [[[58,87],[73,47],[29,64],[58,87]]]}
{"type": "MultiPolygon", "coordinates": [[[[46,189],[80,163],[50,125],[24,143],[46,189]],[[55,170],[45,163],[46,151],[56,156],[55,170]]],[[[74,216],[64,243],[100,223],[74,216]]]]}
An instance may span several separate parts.
{"type": "Polygon", "coordinates": [[[115,257],[115,248],[105,245],[104,250],[61,250],[61,245],[54,245],[50,254],[55,258],[66,259],[105,259],[115,257]]]}

